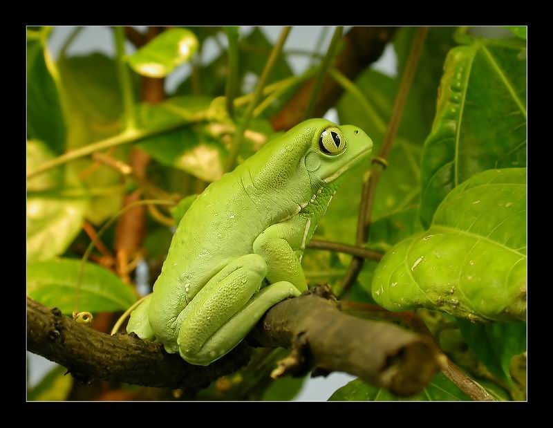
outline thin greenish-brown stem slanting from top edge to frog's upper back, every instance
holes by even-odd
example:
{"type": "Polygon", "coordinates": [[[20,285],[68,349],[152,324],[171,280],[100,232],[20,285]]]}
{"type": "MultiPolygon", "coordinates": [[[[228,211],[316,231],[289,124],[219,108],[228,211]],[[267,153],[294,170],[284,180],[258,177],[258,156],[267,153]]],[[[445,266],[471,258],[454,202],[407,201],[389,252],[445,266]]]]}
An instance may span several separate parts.
{"type": "Polygon", "coordinates": [[[268,79],[272,71],[272,68],[274,67],[274,64],[276,64],[277,62],[277,58],[281,53],[281,50],[284,46],[284,42],[286,41],[286,38],[288,37],[289,32],[290,32],[289,26],[285,26],[282,29],[279,39],[277,40],[277,43],[272,48],[271,55],[269,56],[269,59],[265,64],[265,68],[263,68],[263,73],[261,73],[261,77],[259,77],[259,80],[257,81],[254,95],[252,97],[252,100],[250,101],[250,104],[248,104],[247,106],[245,116],[243,120],[241,120],[240,124],[238,125],[238,129],[236,130],[236,133],[234,133],[234,138],[232,140],[232,145],[230,147],[229,160],[226,168],[227,171],[230,171],[231,169],[234,168],[234,164],[236,163],[236,158],[238,158],[238,152],[240,151],[240,147],[242,145],[244,131],[250,125],[250,121],[252,120],[254,109],[257,103],[259,102],[261,94],[263,93],[263,87],[265,86],[265,81],[268,79]]]}

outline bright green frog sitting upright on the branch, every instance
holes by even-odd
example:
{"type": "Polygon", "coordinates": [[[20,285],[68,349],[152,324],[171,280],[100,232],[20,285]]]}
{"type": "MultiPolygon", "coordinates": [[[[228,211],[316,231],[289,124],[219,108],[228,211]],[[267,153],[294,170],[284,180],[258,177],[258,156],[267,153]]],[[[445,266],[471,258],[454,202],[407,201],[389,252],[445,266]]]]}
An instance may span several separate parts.
{"type": "Polygon", "coordinates": [[[309,119],[210,183],[180,219],[127,333],[200,366],[232,351],[272,306],[308,290],[306,244],[344,172],[372,148],[359,127],[309,119]]]}

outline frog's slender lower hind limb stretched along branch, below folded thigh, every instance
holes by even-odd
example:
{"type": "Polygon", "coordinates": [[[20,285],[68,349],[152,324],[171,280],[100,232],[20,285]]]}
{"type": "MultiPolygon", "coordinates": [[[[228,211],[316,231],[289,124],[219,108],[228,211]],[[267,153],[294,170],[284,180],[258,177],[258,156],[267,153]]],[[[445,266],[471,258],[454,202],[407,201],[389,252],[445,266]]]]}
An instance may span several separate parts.
{"type": "Polygon", "coordinates": [[[272,306],[301,292],[288,281],[279,281],[257,292],[246,306],[207,339],[192,364],[209,364],[232,350],[250,333],[263,314],[272,306]]]}

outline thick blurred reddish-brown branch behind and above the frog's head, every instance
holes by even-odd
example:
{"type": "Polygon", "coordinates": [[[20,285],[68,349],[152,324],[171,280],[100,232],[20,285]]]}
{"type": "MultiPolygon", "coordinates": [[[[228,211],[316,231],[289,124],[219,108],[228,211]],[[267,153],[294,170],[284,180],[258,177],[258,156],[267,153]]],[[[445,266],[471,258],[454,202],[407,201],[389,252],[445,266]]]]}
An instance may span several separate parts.
{"type": "MultiPolygon", "coordinates": [[[[350,80],[355,80],[368,65],[375,62],[395,32],[394,27],[353,27],[344,36],[344,48],[332,64],[350,80]]],[[[299,87],[283,109],[271,122],[273,129],[290,129],[301,122],[306,115],[309,100],[315,86],[312,78],[299,87]]],[[[313,117],[319,118],[338,101],[344,89],[330,77],[326,77],[315,104],[313,117]]]]}

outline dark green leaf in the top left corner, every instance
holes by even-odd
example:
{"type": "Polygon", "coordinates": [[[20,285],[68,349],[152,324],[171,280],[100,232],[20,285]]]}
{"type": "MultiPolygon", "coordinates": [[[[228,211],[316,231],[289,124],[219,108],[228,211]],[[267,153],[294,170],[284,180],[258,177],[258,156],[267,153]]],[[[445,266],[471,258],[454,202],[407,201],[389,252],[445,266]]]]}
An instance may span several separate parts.
{"type": "Polygon", "coordinates": [[[27,138],[44,141],[59,154],[65,149],[66,126],[59,93],[46,63],[45,39],[44,30],[27,31],[27,138]]]}

